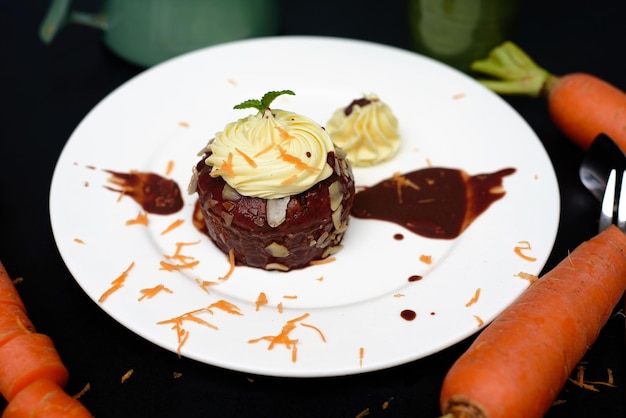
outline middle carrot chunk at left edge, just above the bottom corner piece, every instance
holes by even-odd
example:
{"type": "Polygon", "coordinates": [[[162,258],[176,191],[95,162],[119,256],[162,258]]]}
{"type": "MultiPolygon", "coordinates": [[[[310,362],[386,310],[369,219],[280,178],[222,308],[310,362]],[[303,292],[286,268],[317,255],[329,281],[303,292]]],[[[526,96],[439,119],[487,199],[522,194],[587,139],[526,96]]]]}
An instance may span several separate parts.
{"type": "Polygon", "coordinates": [[[68,378],[68,370],[47,335],[17,335],[0,347],[0,394],[9,402],[36,380],[49,379],[65,387],[68,378]]]}

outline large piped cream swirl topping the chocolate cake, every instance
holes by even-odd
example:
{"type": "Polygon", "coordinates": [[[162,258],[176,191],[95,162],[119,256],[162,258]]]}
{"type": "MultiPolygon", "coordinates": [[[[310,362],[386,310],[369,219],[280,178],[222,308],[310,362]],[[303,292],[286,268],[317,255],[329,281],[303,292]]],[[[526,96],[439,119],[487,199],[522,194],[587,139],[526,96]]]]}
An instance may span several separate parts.
{"type": "Polygon", "coordinates": [[[231,122],[206,147],[211,176],[222,177],[243,196],[277,199],[301,193],[332,174],[335,150],[313,120],[267,109],[231,122]]]}

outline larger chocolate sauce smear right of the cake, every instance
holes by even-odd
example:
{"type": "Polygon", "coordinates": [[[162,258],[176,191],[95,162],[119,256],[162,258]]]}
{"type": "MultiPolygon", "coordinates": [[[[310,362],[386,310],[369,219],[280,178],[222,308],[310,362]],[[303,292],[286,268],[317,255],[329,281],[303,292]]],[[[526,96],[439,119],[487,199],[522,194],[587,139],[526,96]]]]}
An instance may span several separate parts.
{"type": "Polygon", "coordinates": [[[491,204],[505,195],[506,168],[470,176],[463,170],[431,167],[412,171],[359,191],[352,216],[394,222],[427,237],[458,237],[491,204]]]}

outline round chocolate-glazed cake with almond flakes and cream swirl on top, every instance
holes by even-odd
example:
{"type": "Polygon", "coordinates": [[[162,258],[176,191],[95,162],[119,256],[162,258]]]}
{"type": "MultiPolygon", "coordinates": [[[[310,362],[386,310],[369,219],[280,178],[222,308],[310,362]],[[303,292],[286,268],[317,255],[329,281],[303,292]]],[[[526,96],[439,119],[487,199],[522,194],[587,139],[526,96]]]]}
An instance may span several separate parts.
{"type": "Polygon", "coordinates": [[[352,170],[315,122],[261,108],[209,142],[190,192],[198,194],[208,235],[237,264],[303,268],[341,248],[352,170]]]}

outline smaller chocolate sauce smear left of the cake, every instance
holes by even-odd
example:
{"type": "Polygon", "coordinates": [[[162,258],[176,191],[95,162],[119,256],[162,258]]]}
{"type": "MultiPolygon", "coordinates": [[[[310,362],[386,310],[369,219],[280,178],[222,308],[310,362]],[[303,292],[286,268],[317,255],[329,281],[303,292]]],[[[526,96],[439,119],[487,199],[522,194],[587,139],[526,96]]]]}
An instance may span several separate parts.
{"type": "Polygon", "coordinates": [[[148,213],[170,215],[183,207],[180,187],[173,180],[140,171],[129,173],[104,171],[111,174],[109,183],[119,187],[116,189],[104,186],[106,189],[131,197],[148,213]]]}

